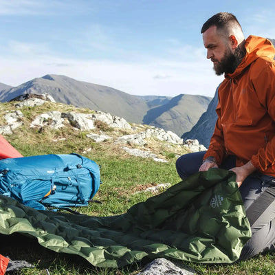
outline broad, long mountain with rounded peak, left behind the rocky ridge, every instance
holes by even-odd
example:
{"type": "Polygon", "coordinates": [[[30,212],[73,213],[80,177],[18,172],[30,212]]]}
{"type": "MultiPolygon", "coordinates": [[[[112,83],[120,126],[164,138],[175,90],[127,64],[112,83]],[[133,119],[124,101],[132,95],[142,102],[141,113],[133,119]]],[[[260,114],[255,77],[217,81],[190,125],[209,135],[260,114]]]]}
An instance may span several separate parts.
{"type": "Polygon", "coordinates": [[[148,110],[146,102],[137,96],[54,74],[34,78],[18,87],[1,91],[0,101],[7,102],[21,94],[50,94],[57,102],[106,111],[131,122],[142,122],[148,110]]]}

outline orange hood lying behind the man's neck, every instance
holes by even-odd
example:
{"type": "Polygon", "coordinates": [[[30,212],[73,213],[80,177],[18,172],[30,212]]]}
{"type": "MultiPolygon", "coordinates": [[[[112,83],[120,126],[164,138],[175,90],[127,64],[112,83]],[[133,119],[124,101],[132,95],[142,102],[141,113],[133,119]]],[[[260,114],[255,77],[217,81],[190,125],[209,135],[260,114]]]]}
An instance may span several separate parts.
{"type": "Polygon", "coordinates": [[[270,58],[273,59],[275,56],[274,45],[268,40],[259,36],[250,35],[245,40],[246,54],[241,61],[241,64],[236,67],[232,74],[228,74],[230,78],[234,78],[243,72],[245,67],[248,67],[257,58],[270,58]]]}

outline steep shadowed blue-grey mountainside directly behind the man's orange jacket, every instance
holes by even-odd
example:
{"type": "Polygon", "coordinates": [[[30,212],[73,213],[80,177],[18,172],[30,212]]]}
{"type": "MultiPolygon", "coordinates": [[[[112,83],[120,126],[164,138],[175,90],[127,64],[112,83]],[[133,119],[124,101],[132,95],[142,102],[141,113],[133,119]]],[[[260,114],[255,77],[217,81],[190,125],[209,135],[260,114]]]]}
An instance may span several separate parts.
{"type": "MultiPolygon", "coordinates": [[[[275,39],[269,39],[275,47],[275,39]]],[[[275,56],[274,56],[275,59],[275,56]]],[[[218,88],[217,88],[218,89],[218,88]]],[[[214,126],[217,120],[216,107],[218,104],[218,93],[214,95],[212,101],[210,102],[208,109],[205,113],[201,115],[197,124],[192,127],[191,131],[184,133],[181,135],[181,138],[184,140],[199,140],[200,144],[208,147],[210,143],[210,138],[212,137],[212,133],[214,132],[214,126]]]]}

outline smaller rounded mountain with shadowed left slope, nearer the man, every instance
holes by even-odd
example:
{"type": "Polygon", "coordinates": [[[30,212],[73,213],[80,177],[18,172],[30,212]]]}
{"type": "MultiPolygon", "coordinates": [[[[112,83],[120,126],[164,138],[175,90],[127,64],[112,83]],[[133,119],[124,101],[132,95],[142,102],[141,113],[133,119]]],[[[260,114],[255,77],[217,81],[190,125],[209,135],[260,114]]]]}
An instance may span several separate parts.
{"type": "Polygon", "coordinates": [[[210,100],[206,96],[181,94],[164,105],[150,109],[144,115],[143,122],[181,135],[182,131],[189,131],[195,125],[210,100]]]}

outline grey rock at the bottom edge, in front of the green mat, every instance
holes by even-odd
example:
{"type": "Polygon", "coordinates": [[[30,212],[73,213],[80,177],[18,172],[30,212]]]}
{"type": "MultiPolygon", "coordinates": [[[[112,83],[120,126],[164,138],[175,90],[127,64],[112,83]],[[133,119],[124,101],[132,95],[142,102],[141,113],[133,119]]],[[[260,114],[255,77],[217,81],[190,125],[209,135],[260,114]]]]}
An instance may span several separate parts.
{"type": "Polygon", "coordinates": [[[174,263],[164,259],[155,259],[137,275],[195,275],[196,272],[189,267],[179,268],[174,263]]]}

